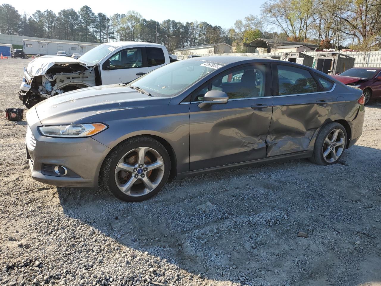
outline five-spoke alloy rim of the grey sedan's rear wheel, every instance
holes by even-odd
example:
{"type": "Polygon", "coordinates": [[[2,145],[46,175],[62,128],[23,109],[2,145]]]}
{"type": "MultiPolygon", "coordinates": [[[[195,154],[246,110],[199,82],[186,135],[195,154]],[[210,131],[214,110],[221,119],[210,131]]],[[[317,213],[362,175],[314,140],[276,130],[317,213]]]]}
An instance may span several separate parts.
{"type": "Polygon", "coordinates": [[[343,154],[345,145],[345,135],[341,129],[333,129],[325,137],[323,143],[323,159],[332,163],[339,159],[343,154]]]}

